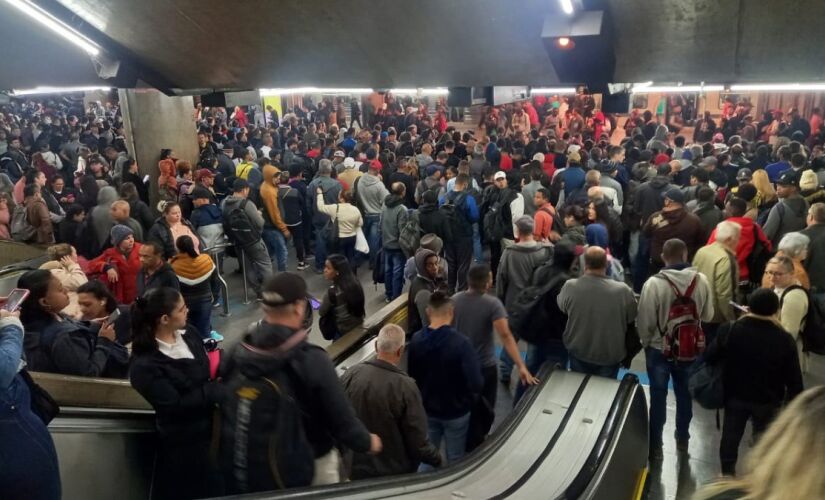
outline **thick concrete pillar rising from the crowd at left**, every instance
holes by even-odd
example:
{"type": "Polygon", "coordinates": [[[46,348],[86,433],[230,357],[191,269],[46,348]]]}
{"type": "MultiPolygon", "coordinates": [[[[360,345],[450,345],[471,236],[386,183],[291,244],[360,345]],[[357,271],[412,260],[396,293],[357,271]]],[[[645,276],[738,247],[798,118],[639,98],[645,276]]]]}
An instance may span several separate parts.
{"type": "Polygon", "coordinates": [[[198,162],[195,102],[192,96],[170,97],[154,89],[120,89],[126,147],[138,162],[141,175],[149,176],[149,199],[158,202],[158,161],[161,149],[177,158],[198,162]]]}

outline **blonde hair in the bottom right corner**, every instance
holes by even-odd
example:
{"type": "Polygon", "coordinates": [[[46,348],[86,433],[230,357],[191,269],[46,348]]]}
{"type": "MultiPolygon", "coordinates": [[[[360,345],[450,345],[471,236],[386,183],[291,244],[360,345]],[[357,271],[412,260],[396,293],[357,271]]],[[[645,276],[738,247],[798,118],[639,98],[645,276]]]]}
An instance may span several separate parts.
{"type": "Polygon", "coordinates": [[[798,395],[745,461],[745,474],[706,486],[694,500],[742,490],[743,499],[825,498],[825,386],[798,395]]]}

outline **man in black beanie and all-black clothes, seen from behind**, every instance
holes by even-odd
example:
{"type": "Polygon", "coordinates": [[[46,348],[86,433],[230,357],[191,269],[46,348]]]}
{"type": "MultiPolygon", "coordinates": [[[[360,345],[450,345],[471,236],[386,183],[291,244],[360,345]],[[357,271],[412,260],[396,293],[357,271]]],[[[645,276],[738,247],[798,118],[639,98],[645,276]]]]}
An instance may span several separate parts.
{"type": "Polygon", "coordinates": [[[722,363],[725,422],[719,458],[722,474],[736,474],[739,442],[748,420],[758,438],[782,405],[802,392],[796,342],[776,319],[779,298],[768,288],[748,300],[750,313],[719,328],[705,353],[709,364],[722,363]]]}

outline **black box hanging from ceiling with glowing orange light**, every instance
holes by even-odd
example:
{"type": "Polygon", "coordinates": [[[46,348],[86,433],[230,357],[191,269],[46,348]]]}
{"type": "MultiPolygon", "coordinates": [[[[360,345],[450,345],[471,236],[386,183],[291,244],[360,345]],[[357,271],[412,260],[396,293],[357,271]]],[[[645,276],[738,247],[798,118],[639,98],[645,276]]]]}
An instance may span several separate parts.
{"type": "Polygon", "coordinates": [[[616,69],[607,11],[550,15],[544,20],[541,37],[560,82],[583,83],[590,92],[607,92],[616,69]]]}

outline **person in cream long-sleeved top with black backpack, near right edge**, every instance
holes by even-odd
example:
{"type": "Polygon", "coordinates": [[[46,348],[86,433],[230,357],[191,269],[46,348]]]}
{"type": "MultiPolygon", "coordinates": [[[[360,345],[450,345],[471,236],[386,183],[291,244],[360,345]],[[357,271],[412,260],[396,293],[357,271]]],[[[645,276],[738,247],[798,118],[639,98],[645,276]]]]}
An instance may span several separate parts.
{"type": "Polygon", "coordinates": [[[784,255],[769,260],[765,274],[771,281],[774,293],[779,296],[779,322],[796,340],[799,364],[804,373],[807,356],[802,352],[800,333],[805,328],[805,317],[808,315],[808,293],[794,276],[793,261],[784,255]]]}

